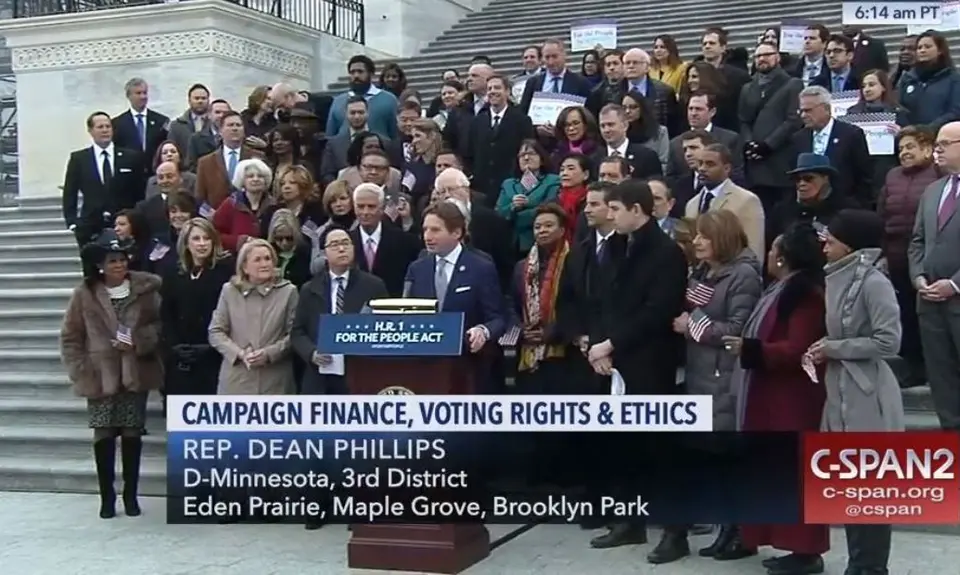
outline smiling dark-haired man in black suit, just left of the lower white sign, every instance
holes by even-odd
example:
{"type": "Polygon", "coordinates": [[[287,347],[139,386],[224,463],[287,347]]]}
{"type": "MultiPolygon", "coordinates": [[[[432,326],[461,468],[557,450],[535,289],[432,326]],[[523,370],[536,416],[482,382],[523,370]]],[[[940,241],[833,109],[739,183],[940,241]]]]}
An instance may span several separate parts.
{"type": "Polygon", "coordinates": [[[521,142],[534,137],[530,117],[510,105],[509,94],[503,76],[487,79],[487,105],[470,122],[463,158],[473,189],[486,196],[490,207],[497,203],[500,185],[517,171],[521,142]]]}

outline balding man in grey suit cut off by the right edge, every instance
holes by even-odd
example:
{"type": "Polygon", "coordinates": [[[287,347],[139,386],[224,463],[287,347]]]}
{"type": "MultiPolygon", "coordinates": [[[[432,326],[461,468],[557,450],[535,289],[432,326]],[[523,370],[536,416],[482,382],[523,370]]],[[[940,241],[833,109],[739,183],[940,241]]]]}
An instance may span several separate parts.
{"type": "MultiPolygon", "coordinates": [[[[923,192],[907,249],[927,381],[940,426],[960,430],[960,122],[937,134],[940,170],[923,192]]],[[[893,270],[891,270],[893,271],[893,270]]],[[[895,277],[891,277],[896,281],[895,277]]],[[[904,336],[907,334],[905,333],[904,336]]]]}

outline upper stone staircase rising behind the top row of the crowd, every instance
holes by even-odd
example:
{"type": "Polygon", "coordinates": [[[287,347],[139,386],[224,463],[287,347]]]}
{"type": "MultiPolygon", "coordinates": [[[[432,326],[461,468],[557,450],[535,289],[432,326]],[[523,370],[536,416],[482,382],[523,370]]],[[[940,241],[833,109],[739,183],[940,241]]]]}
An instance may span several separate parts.
{"type": "MultiPolygon", "coordinates": [[[[580,20],[615,17],[621,47],[649,50],[654,36],[669,33],[677,39],[685,60],[700,54],[700,35],[708,26],[719,24],[727,29],[731,46],[752,48],[765,28],[782,20],[822,22],[837,31],[841,20],[839,0],[741,0],[735,5],[703,0],[625,0],[614,9],[611,6],[606,0],[494,0],[443,32],[419,55],[397,62],[406,72],[410,86],[424,98],[432,98],[438,92],[443,70],[465,70],[473,56],[484,54],[493,60],[498,71],[512,75],[520,71],[520,54],[525,46],[550,37],[569,41],[570,24],[580,20]]],[[[867,28],[867,32],[886,42],[895,61],[905,27],[874,27],[867,28]]],[[[956,40],[960,33],[950,33],[948,38],[956,40]]],[[[570,57],[570,65],[579,71],[579,55],[570,57]]],[[[346,78],[330,89],[346,89],[346,78]]]]}

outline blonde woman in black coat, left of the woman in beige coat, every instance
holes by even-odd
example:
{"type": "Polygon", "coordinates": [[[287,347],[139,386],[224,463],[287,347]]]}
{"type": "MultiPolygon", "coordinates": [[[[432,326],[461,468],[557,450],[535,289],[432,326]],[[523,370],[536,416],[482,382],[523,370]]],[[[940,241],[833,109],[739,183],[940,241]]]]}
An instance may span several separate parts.
{"type": "Polygon", "coordinates": [[[177,239],[177,269],[160,288],[160,319],[168,358],[167,395],[215,395],[220,354],[207,341],[207,326],[235,263],[206,218],[184,224],[177,239]]]}

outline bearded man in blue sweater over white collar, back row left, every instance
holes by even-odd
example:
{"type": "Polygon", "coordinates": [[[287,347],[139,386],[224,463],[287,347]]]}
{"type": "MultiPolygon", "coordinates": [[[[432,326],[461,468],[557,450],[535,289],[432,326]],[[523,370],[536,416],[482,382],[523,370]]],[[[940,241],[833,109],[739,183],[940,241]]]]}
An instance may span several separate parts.
{"type": "Polygon", "coordinates": [[[375,66],[370,58],[357,55],[347,62],[350,89],[333,99],[327,117],[327,136],[348,130],[347,102],[351,96],[363,96],[367,100],[367,126],[371,132],[385,138],[397,138],[397,97],[387,90],[373,85],[375,66]]]}

